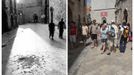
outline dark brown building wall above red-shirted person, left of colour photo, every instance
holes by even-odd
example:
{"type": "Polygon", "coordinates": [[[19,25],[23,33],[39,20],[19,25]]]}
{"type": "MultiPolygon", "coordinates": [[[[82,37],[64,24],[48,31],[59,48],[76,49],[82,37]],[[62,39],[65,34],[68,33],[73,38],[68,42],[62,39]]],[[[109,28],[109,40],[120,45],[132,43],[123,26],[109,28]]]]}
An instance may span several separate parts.
{"type": "Polygon", "coordinates": [[[69,0],[68,1],[68,22],[71,21],[79,23],[83,23],[86,17],[85,10],[85,0],[69,0]]]}

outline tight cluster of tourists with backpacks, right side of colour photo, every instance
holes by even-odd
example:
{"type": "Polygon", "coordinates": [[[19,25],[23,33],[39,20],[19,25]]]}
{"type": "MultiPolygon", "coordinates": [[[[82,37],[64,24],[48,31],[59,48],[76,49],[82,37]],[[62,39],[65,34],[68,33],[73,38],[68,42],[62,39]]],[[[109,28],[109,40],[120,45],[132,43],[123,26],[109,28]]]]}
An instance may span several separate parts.
{"type": "Polygon", "coordinates": [[[127,42],[132,41],[130,24],[125,21],[119,25],[116,25],[114,21],[111,21],[110,25],[104,22],[100,33],[103,43],[101,48],[102,54],[108,50],[107,54],[110,55],[112,51],[116,51],[116,48],[119,48],[120,52],[124,53],[127,42]]]}

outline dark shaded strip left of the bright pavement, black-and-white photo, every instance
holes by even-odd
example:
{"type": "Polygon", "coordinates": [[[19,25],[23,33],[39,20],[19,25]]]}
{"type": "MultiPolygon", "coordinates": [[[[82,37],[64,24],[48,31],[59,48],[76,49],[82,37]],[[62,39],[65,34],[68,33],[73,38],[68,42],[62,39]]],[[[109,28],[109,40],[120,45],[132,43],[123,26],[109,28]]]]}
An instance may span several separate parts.
{"type": "Polygon", "coordinates": [[[11,53],[11,49],[12,49],[12,46],[13,46],[13,43],[14,43],[14,40],[15,40],[15,37],[16,37],[16,34],[17,34],[17,30],[18,29],[14,29],[13,32],[11,32],[11,33],[7,32],[7,33],[5,33],[5,34],[7,34],[5,36],[5,38],[2,37],[2,42],[6,42],[4,45],[2,45],[2,75],[5,75],[6,66],[7,66],[9,56],[10,56],[10,53],[11,53]],[[13,34],[13,35],[10,35],[10,34],[13,34]],[[3,39],[8,38],[8,36],[9,36],[9,38],[12,37],[12,36],[14,36],[14,37],[11,38],[11,39],[3,41],[3,39]]]}

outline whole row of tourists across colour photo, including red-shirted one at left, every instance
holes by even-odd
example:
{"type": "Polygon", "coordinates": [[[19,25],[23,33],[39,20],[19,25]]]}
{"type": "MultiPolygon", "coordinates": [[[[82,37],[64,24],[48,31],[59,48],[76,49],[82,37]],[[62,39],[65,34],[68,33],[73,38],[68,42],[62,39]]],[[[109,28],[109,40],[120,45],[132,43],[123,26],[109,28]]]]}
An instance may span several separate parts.
{"type": "MultiPolygon", "coordinates": [[[[78,43],[76,41],[77,37],[80,37],[80,35],[77,34],[78,30],[75,22],[71,22],[69,31],[69,40],[73,48],[76,43],[78,43]]],[[[86,23],[82,24],[81,34],[84,45],[86,45],[86,40],[89,39],[88,37],[91,37],[91,48],[98,47],[98,42],[101,40],[101,54],[107,53],[107,55],[110,55],[112,51],[116,52],[117,48],[121,53],[124,53],[127,42],[132,41],[130,24],[125,21],[122,24],[115,24],[112,20],[111,23],[108,24],[104,20],[102,24],[98,24],[96,20],[93,20],[91,25],[87,25],[86,23]]]]}

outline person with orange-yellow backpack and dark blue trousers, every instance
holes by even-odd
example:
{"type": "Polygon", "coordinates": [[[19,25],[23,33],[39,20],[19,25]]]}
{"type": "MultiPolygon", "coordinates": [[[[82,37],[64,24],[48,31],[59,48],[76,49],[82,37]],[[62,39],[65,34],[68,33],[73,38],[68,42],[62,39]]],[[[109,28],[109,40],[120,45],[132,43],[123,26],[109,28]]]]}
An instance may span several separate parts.
{"type": "Polygon", "coordinates": [[[129,27],[126,25],[126,22],[122,24],[122,35],[120,39],[120,52],[124,53],[126,50],[127,38],[129,36],[129,27]]]}

